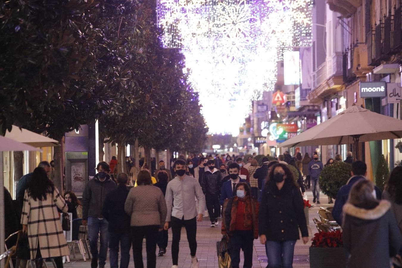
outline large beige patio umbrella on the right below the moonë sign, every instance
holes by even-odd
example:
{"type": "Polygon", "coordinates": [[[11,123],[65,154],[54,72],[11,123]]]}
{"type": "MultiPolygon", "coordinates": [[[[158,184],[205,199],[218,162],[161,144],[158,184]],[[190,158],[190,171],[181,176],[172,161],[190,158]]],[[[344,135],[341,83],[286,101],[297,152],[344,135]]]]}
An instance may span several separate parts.
{"type": "MultiPolygon", "coordinates": [[[[359,141],[377,141],[399,139],[402,137],[402,120],[371,112],[360,106],[351,106],[308,129],[299,135],[284,141],[279,147],[355,144],[359,141]]],[[[358,146],[355,156],[359,158],[358,146]]]]}

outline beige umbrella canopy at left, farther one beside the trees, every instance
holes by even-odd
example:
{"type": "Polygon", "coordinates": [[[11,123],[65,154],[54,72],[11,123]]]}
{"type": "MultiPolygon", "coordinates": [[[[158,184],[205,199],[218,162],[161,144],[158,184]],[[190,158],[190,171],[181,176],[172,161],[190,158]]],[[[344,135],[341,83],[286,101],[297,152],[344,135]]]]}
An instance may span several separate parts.
{"type": "Polygon", "coordinates": [[[50,147],[59,145],[59,143],[54,139],[39,135],[27,129],[20,129],[19,127],[14,125],[12,126],[11,131],[6,132],[6,135],[4,135],[4,137],[31,145],[33,147],[50,147]]]}

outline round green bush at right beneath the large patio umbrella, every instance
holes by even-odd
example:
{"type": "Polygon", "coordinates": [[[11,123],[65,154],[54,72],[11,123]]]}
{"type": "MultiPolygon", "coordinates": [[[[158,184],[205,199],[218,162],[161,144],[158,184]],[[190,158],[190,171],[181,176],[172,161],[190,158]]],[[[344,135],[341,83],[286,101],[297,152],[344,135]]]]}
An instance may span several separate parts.
{"type": "Polygon", "coordinates": [[[352,165],[345,162],[334,162],[325,166],[319,178],[320,188],[324,194],[336,198],[340,187],[351,177],[352,165]]]}

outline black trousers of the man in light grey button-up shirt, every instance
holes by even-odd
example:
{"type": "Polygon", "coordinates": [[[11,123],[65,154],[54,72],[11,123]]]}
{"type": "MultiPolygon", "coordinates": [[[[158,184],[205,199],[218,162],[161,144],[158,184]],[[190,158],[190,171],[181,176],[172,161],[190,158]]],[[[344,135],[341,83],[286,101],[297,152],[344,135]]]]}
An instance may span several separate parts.
{"type": "Polygon", "coordinates": [[[182,219],[178,219],[172,216],[171,225],[172,225],[172,262],[173,265],[178,265],[178,249],[181,235],[181,227],[184,226],[186,228],[187,240],[189,241],[191,257],[195,257],[195,254],[197,253],[197,240],[195,238],[197,235],[197,220],[194,217],[193,219],[185,221],[184,217],[182,219]]]}

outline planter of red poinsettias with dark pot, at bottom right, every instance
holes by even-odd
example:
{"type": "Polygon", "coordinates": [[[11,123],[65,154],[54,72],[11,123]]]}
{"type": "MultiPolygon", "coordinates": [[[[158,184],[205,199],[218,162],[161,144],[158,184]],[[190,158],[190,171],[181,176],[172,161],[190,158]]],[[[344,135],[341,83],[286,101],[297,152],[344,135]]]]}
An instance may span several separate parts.
{"type": "Polygon", "coordinates": [[[310,268],[346,267],[347,252],[343,248],[342,232],[314,234],[310,247],[310,268]]]}

